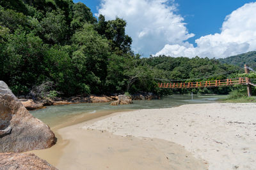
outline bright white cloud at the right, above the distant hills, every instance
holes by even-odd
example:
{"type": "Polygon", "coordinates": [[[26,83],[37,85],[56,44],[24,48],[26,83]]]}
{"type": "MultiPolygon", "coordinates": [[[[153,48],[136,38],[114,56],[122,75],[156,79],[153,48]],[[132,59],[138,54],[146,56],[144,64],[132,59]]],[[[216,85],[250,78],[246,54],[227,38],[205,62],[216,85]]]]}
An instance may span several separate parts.
{"type": "Polygon", "coordinates": [[[196,47],[188,42],[186,45],[168,43],[156,55],[223,58],[256,50],[255,11],[256,3],[244,4],[225,18],[220,34],[196,39],[196,47]]]}

